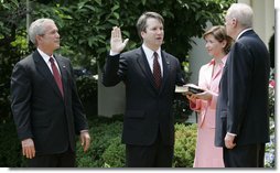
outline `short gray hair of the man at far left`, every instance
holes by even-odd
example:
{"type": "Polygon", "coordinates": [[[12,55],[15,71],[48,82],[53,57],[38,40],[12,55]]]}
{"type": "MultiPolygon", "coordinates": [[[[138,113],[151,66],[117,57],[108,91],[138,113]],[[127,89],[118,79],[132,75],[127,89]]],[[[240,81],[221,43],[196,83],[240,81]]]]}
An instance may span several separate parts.
{"type": "Polygon", "coordinates": [[[29,37],[30,41],[36,45],[36,35],[43,35],[45,33],[45,23],[46,22],[53,22],[54,21],[52,19],[47,19],[47,18],[42,18],[42,19],[37,19],[34,22],[32,22],[30,24],[29,28],[29,37]]]}

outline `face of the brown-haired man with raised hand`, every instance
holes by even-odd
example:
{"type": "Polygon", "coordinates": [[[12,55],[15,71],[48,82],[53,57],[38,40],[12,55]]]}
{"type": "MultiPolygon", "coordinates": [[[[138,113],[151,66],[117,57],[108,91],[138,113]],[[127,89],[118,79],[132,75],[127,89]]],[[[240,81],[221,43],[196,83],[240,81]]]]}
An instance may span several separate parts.
{"type": "Polygon", "coordinates": [[[154,18],[149,18],[147,20],[146,31],[141,32],[141,36],[149,48],[158,50],[163,43],[163,24],[154,18]]]}

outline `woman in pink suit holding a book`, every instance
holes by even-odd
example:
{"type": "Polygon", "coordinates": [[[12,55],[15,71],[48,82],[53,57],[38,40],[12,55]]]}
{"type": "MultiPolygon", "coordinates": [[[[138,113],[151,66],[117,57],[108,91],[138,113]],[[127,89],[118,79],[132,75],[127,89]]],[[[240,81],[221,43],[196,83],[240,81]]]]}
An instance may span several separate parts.
{"type": "Polygon", "coordinates": [[[215,115],[218,97],[218,85],[223,67],[226,63],[231,39],[226,35],[222,25],[213,26],[203,35],[206,41],[206,50],[214,58],[201,67],[198,87],[204,89],[201,94],[190,94],[192,110],[198,112],[197,140],[194,159],[194,167],[224,167],[223,149],[214,145],[215,115]]]}

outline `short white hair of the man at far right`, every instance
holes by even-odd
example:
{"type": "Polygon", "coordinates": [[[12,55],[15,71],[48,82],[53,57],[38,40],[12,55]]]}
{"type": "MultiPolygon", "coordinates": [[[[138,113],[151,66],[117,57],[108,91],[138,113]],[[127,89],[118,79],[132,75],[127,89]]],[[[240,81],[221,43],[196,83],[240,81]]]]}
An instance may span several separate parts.
{"type": "Polygon", "coordinates": [[[227,17],[235,18],[244,28],[252,26],[254,11],[246,3],[233,3],[227,10],[227,17]]]}

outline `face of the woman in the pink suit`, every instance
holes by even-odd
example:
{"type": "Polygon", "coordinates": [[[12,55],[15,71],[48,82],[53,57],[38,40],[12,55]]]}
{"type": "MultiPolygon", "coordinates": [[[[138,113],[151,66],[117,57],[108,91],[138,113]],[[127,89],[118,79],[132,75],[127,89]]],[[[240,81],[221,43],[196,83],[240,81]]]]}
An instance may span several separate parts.
{"type": "Polygon", "coordinates": [[[217,41],[213,34],[205,36],[205,47],[207,53],[214,57],[224,57],[224,47],[226,46],[226,41],[217,41]]]}

